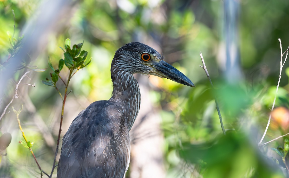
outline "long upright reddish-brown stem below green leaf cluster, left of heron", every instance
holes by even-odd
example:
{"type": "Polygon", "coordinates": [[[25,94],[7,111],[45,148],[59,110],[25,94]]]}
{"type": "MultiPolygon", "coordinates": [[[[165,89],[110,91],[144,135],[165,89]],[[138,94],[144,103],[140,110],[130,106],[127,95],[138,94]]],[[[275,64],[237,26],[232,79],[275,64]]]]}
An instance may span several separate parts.
{"type": "Polygon", "coordinates": [[[56,163],[56,156],[57,156],[57,153],[58,153],[58,150],[59,150],[59,142],[60,142],[60,135],[61,135],[61,131],[62,131],[62,121],[63,121],[63,115],[64,115],[64,106],[65,106],[66,97],[67,97],[67,88],[68,88],[69,81],[70,81],[70,79],[72,77],[71,76],[72,72],[73,72],[73,70],[69,71],[69,76],[67,78],[67,82],[66,82],[66,85],[65,85],[64,98],[63,98],[63,102],[62,102],[62,110],[61,110],[61,116],[60,116],[60,126],[59,126],[58,138],[57,138],[57,145],[56,145],[56,151],[55,151],[55,154],[54,154],[54,161],[53,161],[53,165],[52,165],[51,174],[49,176],[50,178],[52,177],[52,174],[53,174],[54,169],[56,167],[55,163],[56,163]]]}

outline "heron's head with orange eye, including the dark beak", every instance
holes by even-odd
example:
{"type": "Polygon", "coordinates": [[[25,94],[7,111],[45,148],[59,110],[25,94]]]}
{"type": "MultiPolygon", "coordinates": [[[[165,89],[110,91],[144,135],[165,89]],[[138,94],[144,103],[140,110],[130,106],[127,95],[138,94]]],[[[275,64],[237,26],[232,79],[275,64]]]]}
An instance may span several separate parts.
{"type": "Polygon", "coordinates": [[[111,73],[127,71],[168,78],[190,87],[195,87],[188,77],[164,61],[164,57],[148,45],[132,42],[119,48],[112,60],[111,73]]]}

